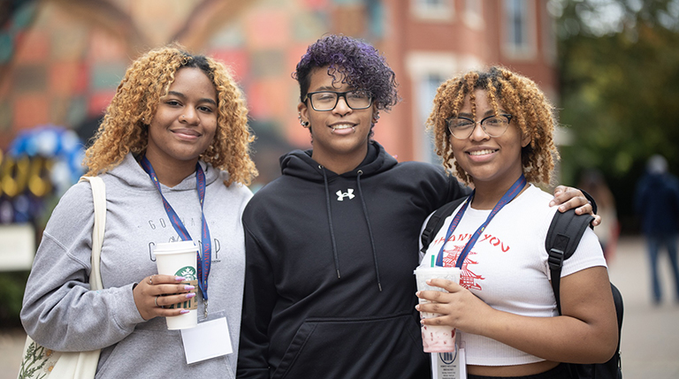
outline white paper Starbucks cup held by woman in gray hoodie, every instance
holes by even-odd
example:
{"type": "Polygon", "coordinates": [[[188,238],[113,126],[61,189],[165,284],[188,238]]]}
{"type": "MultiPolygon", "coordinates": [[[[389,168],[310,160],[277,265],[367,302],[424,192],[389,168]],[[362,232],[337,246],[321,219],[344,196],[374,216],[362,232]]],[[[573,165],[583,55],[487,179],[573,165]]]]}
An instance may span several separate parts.
{"type": "MultiPolygon", "coordinates": [[[[157,244],[153,253],[156,255],[158,274],[185,277],[187,280],[181,284],[190,284],[198,287],[196,256],[198,246],[194,241],[179,241],[157,244]]],[[[193,290],[195,292],[196,290],[193,290]]],[[[165,306],[165,308],[184,308],[187,314],[165,317],[167,329],[189,329],[198,324],[198,300],[196,297],[186,299],[178,304],[165,306]]]]}

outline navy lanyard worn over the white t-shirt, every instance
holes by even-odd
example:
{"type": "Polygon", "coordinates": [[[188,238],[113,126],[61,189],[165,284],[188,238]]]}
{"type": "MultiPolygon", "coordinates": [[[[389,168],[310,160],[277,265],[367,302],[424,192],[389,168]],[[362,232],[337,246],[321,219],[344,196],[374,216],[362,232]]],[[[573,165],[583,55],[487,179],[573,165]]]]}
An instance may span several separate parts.
{"type": "MultiPolygon", "coordinates": [[[[513,201],[516,195],[521,193],[521,190],[523,189],[524,186],[526,186],[526,183],[527,183],[526,177],[524,177],[523,174],[521,174],[521,177],[516,179],[514,184],[511,187],[509,187],[507,192],[502,195],[500,201],[498,201],[498,203],[495,204],[495,207],[492,208],[491,214],[488,215],[488,218],[485,219],[484,224],[481,224],[481,226],[478,227],[477,231],[475,231],[474,234],[471,236],[469,241],[467,241],[467,244],[462,249],[462,253],[460,253],[460,255],[457,257],[457,260],[455,261],[455,267],[462,269],[462,263],[467,258],[467,254],[469,254],[469,251],[471,251],[471,248],[474,246],[474,244],[477,243],[477,239],[481,237],[481,233],[484,231],[485,227],[491,222],[492,217],[497,215],[497,213],[500,212],[500,209],[506,206],[507,203],[509,203],[509,201],[513,201]]],[[[467,210],[467,207],[471,203],[471,200],[474,199],[475,192],[476,190],[471,192],[467,200],[465,200],[464,203],[462,204],[462,208],[460,208],[460,211],[458,211],[457,214],[453,217],[453,221],[450,223],[448,231],[446,232],[446,239],[443,240],[443,245],[441,246],[439,254],[436,257],[437,266],[440,267],[443,266],[443,249],[444,247],[446,247],[446,242],[448,241],[450,236],[453,235],[453,231],[455,230],[455,228],[457,228],[457,224],[460,224],[460,220],[462,220],[462,215],[464,215],[464,211],[467,210]]]]}

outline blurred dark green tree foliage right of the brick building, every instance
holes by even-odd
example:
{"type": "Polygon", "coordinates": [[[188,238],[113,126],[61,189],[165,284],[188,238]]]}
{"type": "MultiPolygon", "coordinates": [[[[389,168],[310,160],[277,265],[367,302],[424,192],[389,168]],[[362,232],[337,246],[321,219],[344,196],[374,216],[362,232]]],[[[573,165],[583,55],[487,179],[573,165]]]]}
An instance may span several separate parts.
{"type": "Polygon", "coordinates": [[[561,0],[557,16],[562,182],[604,173],[623,231],[637,231],[631,202],[653,154],[679,169],[679,0],[561,0]]]}

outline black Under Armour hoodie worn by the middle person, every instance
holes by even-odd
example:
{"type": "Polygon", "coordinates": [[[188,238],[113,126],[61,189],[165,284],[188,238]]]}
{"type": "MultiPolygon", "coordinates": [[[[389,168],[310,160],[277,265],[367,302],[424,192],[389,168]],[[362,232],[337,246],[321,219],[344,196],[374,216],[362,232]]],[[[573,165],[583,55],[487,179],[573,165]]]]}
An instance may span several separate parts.
{"type": "Polygon", "coordinates": [[[468,193],[428,163],[397,163],[377,142],[337,175],[311,150],[243,214],[246,275],[239,378],[428,378],[415,310],[418,235],[468,193]]]}

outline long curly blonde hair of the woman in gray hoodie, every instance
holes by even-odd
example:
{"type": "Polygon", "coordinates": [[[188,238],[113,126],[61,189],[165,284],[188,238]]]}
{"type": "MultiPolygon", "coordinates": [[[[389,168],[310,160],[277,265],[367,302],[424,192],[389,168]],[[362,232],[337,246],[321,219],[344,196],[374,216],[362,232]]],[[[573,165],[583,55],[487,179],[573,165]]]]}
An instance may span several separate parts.
{"type": "Polygon", "coordinates": [[[141,154],[149,143],[149,123],[160,99],[168,94],[175,73],[184,67],[199,68],[217,90],[217,131],[200,159],[229,173],[225,185],[234,181],[248,186],[257,176],[250,158],[255,137],[248,127],[245,98],[229,69],[215,59],[193,56],[177,43],[152,49],[130,65],[106,109],[102,124],[85,152],[88,175],[98,175],[120,164],[127,153],[141,154]]]}

